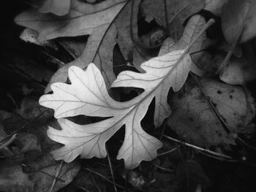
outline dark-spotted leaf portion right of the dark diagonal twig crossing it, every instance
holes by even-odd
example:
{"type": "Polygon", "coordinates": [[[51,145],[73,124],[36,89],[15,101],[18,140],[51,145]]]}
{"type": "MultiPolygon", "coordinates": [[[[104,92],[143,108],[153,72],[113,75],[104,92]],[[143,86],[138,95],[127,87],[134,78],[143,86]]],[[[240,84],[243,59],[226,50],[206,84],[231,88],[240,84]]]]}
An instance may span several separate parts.
{"type": "Polygon", "coordinates": [[[255,117],[255,99],[241,86],[206,80],[202,82],[206,95],[216,104],[225,123],[236,132],[243,132],[255,117]]]}

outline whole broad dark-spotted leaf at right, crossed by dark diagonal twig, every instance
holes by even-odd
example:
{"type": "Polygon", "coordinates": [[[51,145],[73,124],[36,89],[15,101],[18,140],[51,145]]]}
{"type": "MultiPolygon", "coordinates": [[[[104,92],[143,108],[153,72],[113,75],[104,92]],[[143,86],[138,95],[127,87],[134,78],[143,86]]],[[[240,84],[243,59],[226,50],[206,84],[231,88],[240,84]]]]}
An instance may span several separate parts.
{"type": "MultiPolygon", "coordinates": [[[[255,115],[252,96],[249,94],[246,98],[242,87],[215,80],[203,79],[200,83],[229,128],[236,132],[244,131],[255,115]]],[[[187,82],[184,90],[174,95],[173,113],[168,119],[168,125],[185,141],[195,145],[235,145],[234,138],[227,134],[206,96],[198,85],[187,82]]]]}

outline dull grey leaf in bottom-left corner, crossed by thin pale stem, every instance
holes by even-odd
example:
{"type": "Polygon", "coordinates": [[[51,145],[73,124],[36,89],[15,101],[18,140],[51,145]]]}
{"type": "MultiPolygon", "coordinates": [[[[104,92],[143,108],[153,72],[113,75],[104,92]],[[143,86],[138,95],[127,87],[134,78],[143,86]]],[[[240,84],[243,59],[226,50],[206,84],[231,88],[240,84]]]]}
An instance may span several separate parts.
{"type": "MultiPolygon", "coordinates": [[[[45,161],[45,158],[42,158],[45,161]]],[[[38,162],[37,162],[38,163],[38,162]]],[[[48,164],[40,169],[34,169],[34,167],[23,164],[10,164],[7,162],[1,162],[0,172],[0,188],[2,191],[10,192],[23,192],[23,191],[39,191],[46,192],[50,190],[50,186],[53,183],[56,172],[59,170],[59,164],[48,164]],[[23,172],[23,169],[31,169],[31,172],[23,172]]],[[[59,179],[56,180],[56,185],[53,191],[59,191],[59,189],[72,182],[73,178],[80,169],[79,164],[72,162],[72,164],[63,164],[59,173],[59,179]]]]}

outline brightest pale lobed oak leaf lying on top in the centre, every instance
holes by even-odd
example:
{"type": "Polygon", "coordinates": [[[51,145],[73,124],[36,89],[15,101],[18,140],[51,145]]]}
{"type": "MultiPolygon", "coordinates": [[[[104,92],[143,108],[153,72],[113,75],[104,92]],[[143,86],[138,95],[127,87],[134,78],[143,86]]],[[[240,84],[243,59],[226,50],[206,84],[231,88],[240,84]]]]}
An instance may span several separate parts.
{"type": "Polygon", "coordinates": [[[105,142],[125,124],[124,143],[118,152],[118,159],[124,158],[127,168],[138,166],[140,161],[150,161],[157,156],[162,147],[158,139],[143,131],[140,120],[155,98],[154,122],[159,126],[170,115],[167,93],[170,87],[178,91],[185,80],[192,61],[186,50],[174,50],[171,53],[152,58],[142,64],[144,74],[121,72],[112,87],[143,88],[144,92],[131,101],[114,101],[108,95],[102,75],[94,64],[86,72],[72,66],[69,68],[71,85],[54,83],[53,94],[42,96],[39,103],[55,110],[56,118],[75,115],[112,117],[98,123],[80,126],[66,119],[60,119],[62,130],[50,128],[51,139],[65,146],[53,152],[56,159],[70,162],[78,155],[82,158],[105,157],[105,142]]]}

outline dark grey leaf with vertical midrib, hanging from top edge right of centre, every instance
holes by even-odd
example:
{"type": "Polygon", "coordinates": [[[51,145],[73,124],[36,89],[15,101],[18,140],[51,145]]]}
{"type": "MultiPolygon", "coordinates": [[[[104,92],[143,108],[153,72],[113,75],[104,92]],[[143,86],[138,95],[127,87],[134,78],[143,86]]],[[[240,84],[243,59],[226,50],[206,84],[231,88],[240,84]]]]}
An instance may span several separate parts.
{"type": "Polygon", "coordinates": [[[148,21],[155,19],[160,26],[169,28],[170,37],[176,40],[181,37],[184,31],[184,21],[189,16],[199,12],[203,7],[205,7],[205,1],[203,0],[166,1],[166,7],[165,1],[145,0],[140,5],[143,16],[148,21]],[[167,10],[167,15],[165,15],[165,9],[167,10]]]}

